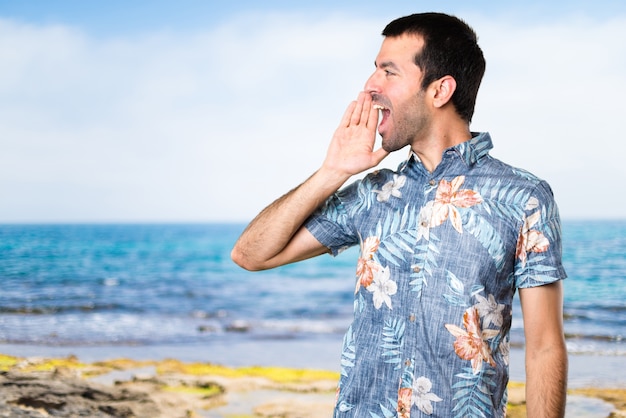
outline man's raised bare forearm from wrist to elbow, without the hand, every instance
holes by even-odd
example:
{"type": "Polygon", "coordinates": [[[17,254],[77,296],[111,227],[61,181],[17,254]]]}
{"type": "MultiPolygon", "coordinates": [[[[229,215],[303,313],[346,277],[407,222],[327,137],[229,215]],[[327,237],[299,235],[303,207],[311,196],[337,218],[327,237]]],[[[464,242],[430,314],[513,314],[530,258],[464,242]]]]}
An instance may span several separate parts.
{"type": "Polygon", "coordinates": [[[285,251],[307,218],[347,180],[323,168],[259,213],[237,240],[231,258],[248,270],[264,270],[318,255],[285,251]],[[293,258],[292,257],[297,257],[293,258]]]}

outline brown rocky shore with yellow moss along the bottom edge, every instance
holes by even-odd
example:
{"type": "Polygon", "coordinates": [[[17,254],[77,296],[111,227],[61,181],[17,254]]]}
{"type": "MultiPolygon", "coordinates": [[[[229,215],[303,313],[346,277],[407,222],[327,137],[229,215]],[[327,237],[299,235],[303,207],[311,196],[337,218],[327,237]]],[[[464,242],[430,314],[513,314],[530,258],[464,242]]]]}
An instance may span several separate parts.
{"type": "MultiPolygon", "coordinates": [[[[177,360],[111,360],[0,355],[0,417],[284,417],[332,415],[335,372],[228,368],[177,360]]],[[[626,417],[626,389],[576,389],[626,417]]],[[[509,416],[525,417],[524,386],[509,386],[509,416]]]]}

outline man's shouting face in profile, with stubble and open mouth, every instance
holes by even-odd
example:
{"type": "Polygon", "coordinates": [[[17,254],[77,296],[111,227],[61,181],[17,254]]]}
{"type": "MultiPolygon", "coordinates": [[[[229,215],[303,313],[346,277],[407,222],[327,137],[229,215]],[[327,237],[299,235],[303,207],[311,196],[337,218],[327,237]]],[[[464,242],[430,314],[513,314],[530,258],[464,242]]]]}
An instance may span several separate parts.
{"type": "Polygon", "coordinates": [[[376,57],[376,70],[365,84],[374,105],[382,108],[378,133],[386,151],[412,145],[429,125],[430,114],[421,88],[423,72],[414,61],[423,45],[422,37],[417,35],[385,38],[376,57]]]}

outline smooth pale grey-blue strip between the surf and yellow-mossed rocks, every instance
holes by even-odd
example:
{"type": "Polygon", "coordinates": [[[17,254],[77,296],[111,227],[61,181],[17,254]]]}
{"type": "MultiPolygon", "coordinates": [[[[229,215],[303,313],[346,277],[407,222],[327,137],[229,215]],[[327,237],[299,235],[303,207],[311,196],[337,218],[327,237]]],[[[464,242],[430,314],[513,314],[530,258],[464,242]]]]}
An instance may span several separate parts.
{"type": "MultiPolygon", "coordinates": [[[[0,344],[0,353],[18,357],[63,358],[85,362],[129,358],[137,361],[175,358],[228,367],[268,366],[338,371],[341,339],[337,336],[294,339],[246,339],[223,343],[45,346],[0,344]]],[[[524,381],[524,350],[512,347],[510,379],[524,381]]],[[[626,388],[626,355],[569,354],[570,388],[626,388]]]]}

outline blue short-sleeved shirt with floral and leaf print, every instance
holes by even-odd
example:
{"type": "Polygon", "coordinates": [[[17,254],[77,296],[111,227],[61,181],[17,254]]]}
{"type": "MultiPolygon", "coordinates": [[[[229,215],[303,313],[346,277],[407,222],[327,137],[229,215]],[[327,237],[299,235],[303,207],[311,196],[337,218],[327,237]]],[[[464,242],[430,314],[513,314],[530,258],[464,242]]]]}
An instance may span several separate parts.
{"type": "Polygon", "coordinates": [[[488,133],[338,191],[306,223],[360,245],[335,417],[501,417],[517,288],[565,278],[550,186],[492,158],[488,133]]]}

